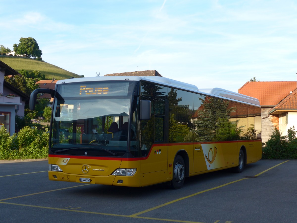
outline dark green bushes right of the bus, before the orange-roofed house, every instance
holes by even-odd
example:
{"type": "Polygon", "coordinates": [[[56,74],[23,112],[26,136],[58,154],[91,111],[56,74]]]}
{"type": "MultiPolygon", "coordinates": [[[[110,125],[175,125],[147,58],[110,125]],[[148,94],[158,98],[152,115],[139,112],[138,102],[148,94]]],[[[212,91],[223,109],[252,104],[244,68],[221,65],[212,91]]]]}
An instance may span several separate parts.
{"type": "Polygon", "coordinates": [[[286,136],[281,136],[281,133],[276,128],[271,135],[271,138],[266,142],[266,147],[263,148],[262,158],[264,159],[296,159],[297,158],[297,138],[295,127],[288,130],[286,136]]]}

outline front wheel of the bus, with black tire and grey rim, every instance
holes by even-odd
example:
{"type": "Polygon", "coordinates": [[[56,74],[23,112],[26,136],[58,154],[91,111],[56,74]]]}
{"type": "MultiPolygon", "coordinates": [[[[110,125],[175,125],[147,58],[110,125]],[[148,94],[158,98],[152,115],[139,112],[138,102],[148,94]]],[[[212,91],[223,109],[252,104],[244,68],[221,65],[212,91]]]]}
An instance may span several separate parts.
{"type": "Polygon", "coordinates": [[[173,162],[173,176],[171,181],[172,189],[180,189],[185,181],[185,162],[181,156],[176,156],[173,162]]]}

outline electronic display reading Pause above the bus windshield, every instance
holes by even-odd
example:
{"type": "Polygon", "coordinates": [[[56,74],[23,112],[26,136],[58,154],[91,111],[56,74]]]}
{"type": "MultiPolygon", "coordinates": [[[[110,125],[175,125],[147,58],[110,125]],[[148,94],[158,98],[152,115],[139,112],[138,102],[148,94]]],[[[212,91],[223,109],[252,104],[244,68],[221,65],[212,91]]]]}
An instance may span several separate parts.
{"type": "Polygon", "coordinates": [[[63,97],[88,96],[125,96],[128,93],[129,82],[115,83],[84,83],[60,86],[63,97]],[[64,88],[64,89],[63,89],[64,88]]]}

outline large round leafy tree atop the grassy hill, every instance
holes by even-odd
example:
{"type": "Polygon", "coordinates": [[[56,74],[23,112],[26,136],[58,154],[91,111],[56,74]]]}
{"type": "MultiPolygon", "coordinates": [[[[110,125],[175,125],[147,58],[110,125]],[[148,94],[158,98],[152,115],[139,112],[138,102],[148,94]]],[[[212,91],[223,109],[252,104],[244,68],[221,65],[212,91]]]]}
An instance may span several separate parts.
{"type": "Polygon", "coordinates": [[[42,55],[42,50],[39,49],[38,43],[32,37],[21,37],[19,44],[13,44],[13,50],[16,54],[32,57],[34,59],[40,59],[42,55]]]}

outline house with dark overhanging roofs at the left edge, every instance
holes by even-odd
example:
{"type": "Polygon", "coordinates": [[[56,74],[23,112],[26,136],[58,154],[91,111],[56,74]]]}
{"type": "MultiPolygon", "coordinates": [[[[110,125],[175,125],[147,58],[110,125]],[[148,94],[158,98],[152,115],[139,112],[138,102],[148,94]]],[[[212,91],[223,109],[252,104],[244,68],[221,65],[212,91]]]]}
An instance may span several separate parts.
{"type": "Polygon", "coordinates": [[[15,115],[24,116],[25,104],[30,97],[4,80],[4,76],[9,75],[20,74],[0,61],[0,123],[12,135],[15,133],[15,115]]]}

